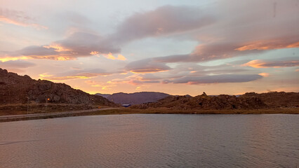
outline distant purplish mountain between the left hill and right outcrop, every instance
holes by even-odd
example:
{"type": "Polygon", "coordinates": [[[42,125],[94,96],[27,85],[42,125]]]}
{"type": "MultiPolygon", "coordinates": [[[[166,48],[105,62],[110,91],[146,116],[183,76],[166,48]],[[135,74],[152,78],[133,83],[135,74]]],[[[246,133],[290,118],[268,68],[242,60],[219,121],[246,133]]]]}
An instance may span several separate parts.
{"type": "Polygon", "coordinates": [[[114,94],[100,94],[99,95],[109,99],[116,104],[144,104],[148,102],[157,102],[159,99],[164,99],[170,96],[162,92],[135,92],[135,93],[114,93],[114,94]]]}

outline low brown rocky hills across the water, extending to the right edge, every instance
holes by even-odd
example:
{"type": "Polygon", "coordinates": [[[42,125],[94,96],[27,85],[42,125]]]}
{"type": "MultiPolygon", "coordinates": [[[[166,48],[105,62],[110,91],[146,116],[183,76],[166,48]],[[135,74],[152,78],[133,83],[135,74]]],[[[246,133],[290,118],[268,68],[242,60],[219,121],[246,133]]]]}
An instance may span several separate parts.
{"type": "Polygon", "coordinates": [[[196,97],[169,96],[158,102],[131,106],[132,109],[166,108],[171,110],[252,110],[279,107],[299,107],[299,93],[246,93],[236,97],[225,94],[207,96],[204,92],[204,94],[196,97]]]}

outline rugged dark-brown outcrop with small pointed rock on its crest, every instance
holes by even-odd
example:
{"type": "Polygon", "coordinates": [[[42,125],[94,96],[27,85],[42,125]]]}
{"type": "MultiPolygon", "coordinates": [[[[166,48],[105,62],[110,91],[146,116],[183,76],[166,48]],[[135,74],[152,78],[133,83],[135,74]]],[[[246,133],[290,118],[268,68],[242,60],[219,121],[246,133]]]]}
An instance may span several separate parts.
{"type": "Polygon", "coordinates": [[[170,96],[156,103],[131,106],[133,109],[168,108],[176,110],[188,109],[263,109],[267,105],[258,97],[236,97],[221,94],[209,97],[206,93],[197,97],[170,96]]]}

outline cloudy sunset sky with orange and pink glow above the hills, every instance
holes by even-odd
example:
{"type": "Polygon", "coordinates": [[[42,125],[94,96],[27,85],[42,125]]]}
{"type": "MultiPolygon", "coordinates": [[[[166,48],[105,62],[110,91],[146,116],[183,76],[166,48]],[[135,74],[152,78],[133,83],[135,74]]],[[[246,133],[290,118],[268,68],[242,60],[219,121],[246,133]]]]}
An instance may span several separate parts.
{"type": "Polygon", "coordinates": [[[299,92],[298,0],[0,0],[0,68],[85,92],[299,92]]]}

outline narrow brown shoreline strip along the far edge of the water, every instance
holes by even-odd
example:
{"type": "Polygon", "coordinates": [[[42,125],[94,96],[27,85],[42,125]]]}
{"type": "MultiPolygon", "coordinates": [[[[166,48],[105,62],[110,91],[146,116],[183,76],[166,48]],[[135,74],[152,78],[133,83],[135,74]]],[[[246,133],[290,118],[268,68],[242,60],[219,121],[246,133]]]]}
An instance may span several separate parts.
{"type": "MultiPolygon", "coordinates": [[[[20,120],[41,120],[48,118],[65,118],[75,116],[100,116],[121,114],[299,114],[299,108],[255,109],[255,110],[169,110],[169,109],[93,109],[91,111],[68,111],[58,113],[34,113],[27,115],[12,115],[0,118],[0,123],[20,120]],[[44,115],[44,116],[41,116],[44,115]],[[21,116],[21,117],[20,117],[21,116]]],[[[1,116],[0,116],[1,117],[1,116]]]]}

